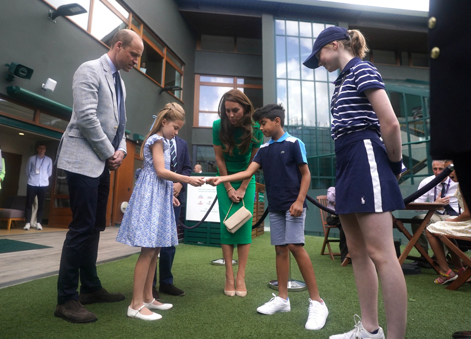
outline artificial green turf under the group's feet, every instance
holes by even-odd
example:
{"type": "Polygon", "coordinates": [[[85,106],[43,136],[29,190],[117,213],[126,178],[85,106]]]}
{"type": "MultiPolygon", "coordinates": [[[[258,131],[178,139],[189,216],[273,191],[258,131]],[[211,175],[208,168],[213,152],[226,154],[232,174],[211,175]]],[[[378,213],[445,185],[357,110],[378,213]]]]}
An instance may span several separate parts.
{"type": "MultiPolygon", "coordinates": [[[[132,278],[138,255],[98,266],[98,275],[108,291],[126,299],[117,303],[87,305],[98,316],[96,323],[72,324],[53,316],[57,276],[25,282],[0,290],[1,338],[328,338],[353,328],[353,315],[360,314],[351,265],[321,256],[322,238],[306,236],[321,297],[329,308],[323,329],[307,331],[308,291],[291,292],[291,312],[261,315],[256,308],[276,292],[268,281],[276,279],[275,250],[269,233],[253,240],[246,269],[245,298],[224,295],[224,267],[210,265],[221,258],[220,248],[181,244],[173,264],[175,285],[186,295],[161,294],[162,302],[174,305],[160,311],[162,320],[145,322],[126,316],[132,295],[132,278]]],[[[237,256],[235,255],[235,258],[237,256]]],[[[237,266],[235,266],[235,270],[237,266]]],[[[433,283],[437,274],[406,276],[408,315],[406,338],[451,338],[455,331],[470,330],[471,284],[448,291],[433,283]]],[[[292,278],[301,279],[292,259],[292,278]]],[[[379,321],[386,321],[379,298],[379,321]]],[[[386,330],[386,329],[385,329],[386,330]]]]}

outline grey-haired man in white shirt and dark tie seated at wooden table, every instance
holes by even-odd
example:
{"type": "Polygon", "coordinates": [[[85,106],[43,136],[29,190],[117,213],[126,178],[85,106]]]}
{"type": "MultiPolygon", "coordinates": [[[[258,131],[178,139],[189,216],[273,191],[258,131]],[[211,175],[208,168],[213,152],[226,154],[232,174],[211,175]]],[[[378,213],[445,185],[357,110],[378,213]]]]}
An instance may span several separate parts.
{"type": "MultiPolygon", "coordinates": [[[[443,160],[432,161],[433,175],[423,179],[418,189],[421,189],[423,186],[427,185],[433,178],[438,176],[444,169],[445,169],[445,161],[443,160]]],[[[430,191],[422,194],[420,197],[415,199],[414,202],[426,202],[428,199],[429,202],[446,203],[444,210],[437,210],[435,211],[435,213],[433,213],[428,225],[436,223],[437,221],[443,221],[446,218],[449,218],[450,216],[458,215],[458,200],[456,199],[454,195],[457,185],[458,184],[453,182],[450,178],[445,177],[443,181],[439,183],[437,186],[433,187],[432,189],[430,189],[430,191]]],[[[416,212],[421,212],[421,211],[416,210],[416,212]]],[[[414,219],[423,219],[423,218],[425,218],[425,214],[417,215],[414,217],[414,219]]],[[[417,231],[419,226],[420,226],[420,223],[412,224],[411,225],[412,231],[415,233],[415,231],[417,231]]],[[[425,236],[425,229],[423,230],[417,242],[423,247],[425,251],[429,249],[427,237],[425,236]]],[[[418,263],[418,264],[420,265],[422,263],[418,263]]]]}

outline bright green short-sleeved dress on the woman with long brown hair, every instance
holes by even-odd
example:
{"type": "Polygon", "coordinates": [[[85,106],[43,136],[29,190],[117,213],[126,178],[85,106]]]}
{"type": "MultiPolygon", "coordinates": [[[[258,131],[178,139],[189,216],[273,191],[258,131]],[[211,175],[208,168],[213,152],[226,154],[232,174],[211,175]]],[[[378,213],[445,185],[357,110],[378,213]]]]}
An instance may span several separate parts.
{"type": "MultiPolygon", "coordinates": [[[[221,130],[221,121],[216,120],[212,124],[212,143],[217,146],[222,146],[219,139],[219,132],[221,130]]],[[[243,131],[240,128],[234,130],[235,143],[240,143],[240,138],[242,137],[243,131]]],[[[253,126],[252,133],[252,145],[249,147],[246,153],[239,154],[239,149],[237,146],[234,147],[233,155],[229,153],[224,154],[224,161],[226,161],[227,174],[234,174],[241,172],[249,167],[250,155],[252,149],[260,148],[260,145],[263,143],[263,133],[260,131],[260,124],[258,122],[253,126]]],[[[219,171],[218,171],[219,176],[219,171]]],[[[242,181],[231,182],[234,189],[238,189],[242,181]]],[[[226,188],[224,185],[219,185],[216,187],[218,192],[218,202],[219,202],[219,218],[221,220],[221,244],[246,244],[252,242],[252,219],[248,220],[244,226],[239,228],[234,234],[227,231],[226,226],[224,226],[224,218],[226,218],[227,211],[231,207],[232,201],[227,196],[226,188]]],[[[245,208],[253,214],[253,202],[255,200],[255,176],[252,176],[247,189],[245,190],[244,195],[244,204],[245,208]]],[[[232,206],[229,215],[229,218],[242,206],[241,202],[236,202],[232,206]]]]}

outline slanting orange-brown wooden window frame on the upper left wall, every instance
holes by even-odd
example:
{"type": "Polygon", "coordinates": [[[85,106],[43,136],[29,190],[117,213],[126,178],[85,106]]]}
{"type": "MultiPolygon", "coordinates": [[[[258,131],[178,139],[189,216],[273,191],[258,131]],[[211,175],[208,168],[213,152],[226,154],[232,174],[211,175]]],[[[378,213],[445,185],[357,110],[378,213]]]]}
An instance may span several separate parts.
{"type": "MultiPolygon", "coordinates": [[[[57,9],[56,7],[54,7],[53,5],[51,5],[47,0],[42,0],[44,1],[45,3],[47,3],[51,8],[54,8],[54,9],[57,9]]],[[[105,46],[106,48],[110,48],[110,46],[106,45],[106,43],[104,43],[103,41],[99,40],[97,37],[95,37],[92,33],[91,33],[91,26],[92,26],[92,20],[93,20],[93,9],[94,9],[94,6],[95,6],[95,2],[96,1],[101,1],[101,3],[103,5],[106,6],[106,8],[110,9],[114,15],[118,16],[125,24],[127,24],[127,28],[138,33],[138,35],[141,37],[141,39],[145,40],[147,44],[149,44],[149,46],[151,46],[159,55],[161,55],[163,57],[163,61],[162,61],[162,83],[159,83],[158,81],[154,80],[153,78],[151,78],[149,75],[147,75],[146,73],[142,72],[139,68],[140,68],[140,64],[141,64],[141,57],[139,57],[139,60],[138,60],[138,65],[137,66],[134,66],[134,68],[136,70],[139,71],[139,73],[141,74],[144,74],[148,79],[150,79],[151,81],[153,81],[157,86],[159,86],[160,88],[163,88],[164,87],[164,84],[165,84],[165,65],[166,63],[168,62],[173,68],[175,68],[175,70],[177,72],[179,72],[181,74],[181,85],[180,87],[182,88],[182,90],[180,91],[180,97],[177,97],[175,96],[173,93],[171,92],[168,92],[172,97],[175,97],[177,100],[179,100],[181,103],[184,104],[184,101],[183,101],[183,79],[184,79],[184,69],[185,69],[185,63],[178,57],[176,56],[175,53],[173,53],[170,48],[168,48],[168,46],[162,42],[161,39],[159,39],[157,37],[157,34],[154,33],[154,31],[152,29],[150,29],[149,26],[147,26],[146,24],[144,24],[144,22],[136,15],[134,14],[134,12],[132,10],[130,10],[129,6],[127,6],[126,4],[122,3],[122,1],[120,0],[116,0],[116,2],[118,2],[119,5],[121,5],[124,9],[126,9],[129,13],[129,16],[126,18],[125,16],[123,16],[121,14],[121,12],[114,8],[114,6],[108,1],[108,0],[90,0],[90,6],[89,8],[86,8],[88,13],[89,13],[89,18],[88,18],[88,24],[87,24],[87,29],[84,29],[83,27],[81,27],[79,24],[77,24],[75,21],[73,21],[73,19],[71,19],[70,17],[68,16],[65,16],[65,18],[67,18],[68,20],[70,20],[73,24],[75,24],[76,26],[78,26],[81,30],[89,33],[89,35],[91,37],[93,37],[94,39],[96,39],[98,42],[100,42],[103,46],[105,46]],[[132,23],[132,20],[136,20],[139,24],[140,24],[140,28],[138,28],[136,25],[134,25],[132,23]],[[144,28],[146,28],[147,32],[149,32],[152,37],[157,40],[160,44],[162,44],[163,46],[163,51],[162,49],[160,49],[159,47],[157,47],[150,39],[148,39],[144,34],[143,34],[143,31],[144,31],[144,28]],[[171,56],[173,56],[175,59],[177,59],[180,63],[181,63],[181,67],[177,66],[173,60],[171,60],[170,57],[167,56],[167,53],[171,54],[171,56]]]]}

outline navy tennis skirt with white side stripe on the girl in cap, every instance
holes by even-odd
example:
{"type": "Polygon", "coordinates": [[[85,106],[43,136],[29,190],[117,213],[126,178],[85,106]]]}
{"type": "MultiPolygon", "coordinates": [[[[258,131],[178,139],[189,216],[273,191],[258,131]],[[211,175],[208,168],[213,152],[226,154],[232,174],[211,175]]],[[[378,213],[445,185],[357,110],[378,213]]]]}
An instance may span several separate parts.
{"type": "Polygon", "coordinates": [[[337,156],[335,211],[380,213],[403,210],[398,180],[389,165],[386,148],[371,129],[335,140],[337,156]]]}

